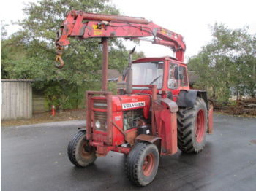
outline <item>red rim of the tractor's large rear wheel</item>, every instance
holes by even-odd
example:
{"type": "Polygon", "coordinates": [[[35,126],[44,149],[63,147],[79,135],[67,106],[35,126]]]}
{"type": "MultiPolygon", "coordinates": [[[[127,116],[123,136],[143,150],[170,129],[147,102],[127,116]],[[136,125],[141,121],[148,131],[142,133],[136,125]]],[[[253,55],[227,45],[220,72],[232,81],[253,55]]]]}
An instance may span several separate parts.
{"type": "Polygon", "coordinates": [[[204,133],[205,133],[205,117],[204,117],[203,110],[201,109],[197,112],[197,120],[195,125],[195,137],[198,143],[203,141],[204,133]]]}

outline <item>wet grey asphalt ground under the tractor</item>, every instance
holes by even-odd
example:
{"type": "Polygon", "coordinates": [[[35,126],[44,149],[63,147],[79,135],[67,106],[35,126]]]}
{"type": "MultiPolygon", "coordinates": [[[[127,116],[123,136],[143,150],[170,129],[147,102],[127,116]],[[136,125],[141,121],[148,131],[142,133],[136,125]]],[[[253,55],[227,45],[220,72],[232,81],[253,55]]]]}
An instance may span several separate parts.
{"type": "Polygon", "coordinates": [[[67,144],[83,121],[1,127],[1,190],[256,190],[256,119],[214,116],[199,155],[161,157],[154,182],[132,186],[122,154],[75,168],[67,144]]]}

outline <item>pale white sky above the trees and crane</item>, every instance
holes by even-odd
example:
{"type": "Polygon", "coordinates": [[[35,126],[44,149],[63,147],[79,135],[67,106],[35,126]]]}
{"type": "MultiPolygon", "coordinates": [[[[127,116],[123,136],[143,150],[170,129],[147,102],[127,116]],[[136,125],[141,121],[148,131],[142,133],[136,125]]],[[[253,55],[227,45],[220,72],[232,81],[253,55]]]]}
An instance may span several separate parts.
{"type": "MultiPolygon", "coordinates": [[[[29,1],[1,2],[1,20],[10,24],[7,26],[7,34],[18,30],[18,26],[11,24],[11,20],[17,21],[25,17],[22,8],[27,2],[29,1]]],[[[215,22],[233,29],[249,26],[249,32],[256,33],[255,0],[111,0],[111,3],[116,5],[121,15],[144,17],[184,36],[187,45],[185,58],[196,55],[200,47],[211,41],[209,26],[213,26],[215,22]]],[[[134,47],[132,42],[124,43],[128,49],[134,47]]],[[[173,56],[170,48],[153,45],[151,42],[140,42],[136,50],[145,52],[147,57],[173,56]]]]}

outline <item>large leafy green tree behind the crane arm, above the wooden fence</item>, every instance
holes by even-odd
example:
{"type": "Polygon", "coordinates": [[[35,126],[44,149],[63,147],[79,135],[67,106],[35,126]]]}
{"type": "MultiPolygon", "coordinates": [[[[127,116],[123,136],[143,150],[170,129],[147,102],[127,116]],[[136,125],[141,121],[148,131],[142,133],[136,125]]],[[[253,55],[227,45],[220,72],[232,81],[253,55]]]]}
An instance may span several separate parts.
{"type": "MultiPolygon", "coordinates": [[[[23,9],[26,18],[18,22],[22,30],[1,43],[1,69],[4,71],[1,77],[36,79],[34,87],[45,91],[49,105],[57,104],[62,109],[74,107],[68,104],[74,98],[70,90],[74,90],[77,95],[78,87],[86,82],[100,80],[101,77],[97,72],[102,65],[101,39],[69,39],[71,43],[62,56],[65,67],[56,69],[53,65],[56,31],[72,9],[103,14],[119,13],[108,0],[30,2],[23,9]]],[[[127,65],[127,55],[120,39],[110,40],[110,69],[122,71],[127,65]]]]}

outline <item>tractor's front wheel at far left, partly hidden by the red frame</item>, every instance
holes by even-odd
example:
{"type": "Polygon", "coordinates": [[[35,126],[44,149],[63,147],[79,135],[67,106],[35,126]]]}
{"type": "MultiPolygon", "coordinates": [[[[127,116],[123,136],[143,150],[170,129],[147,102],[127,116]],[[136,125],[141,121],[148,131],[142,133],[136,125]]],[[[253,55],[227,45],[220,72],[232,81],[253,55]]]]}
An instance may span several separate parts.
{"type": "Polygon", "coordinates": [[[86,167],[96,160],[95,148],[89,146],[86,140],[86,130],[80,130],[75,134],[67,147],[67,155],[70,162],[78,168],[86,167]]]}

